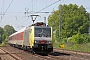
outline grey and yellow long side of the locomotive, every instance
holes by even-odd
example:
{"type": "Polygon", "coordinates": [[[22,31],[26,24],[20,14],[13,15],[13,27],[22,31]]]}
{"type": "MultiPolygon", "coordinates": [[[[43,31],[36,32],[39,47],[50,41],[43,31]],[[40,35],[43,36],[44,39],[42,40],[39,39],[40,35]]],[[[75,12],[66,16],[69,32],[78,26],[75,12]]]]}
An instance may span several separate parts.
{"type": "Polygon", "coordinates": [[[24,45],[32,48],[34,46],[34,26],[28,27],[24,34],[24,45]]]}

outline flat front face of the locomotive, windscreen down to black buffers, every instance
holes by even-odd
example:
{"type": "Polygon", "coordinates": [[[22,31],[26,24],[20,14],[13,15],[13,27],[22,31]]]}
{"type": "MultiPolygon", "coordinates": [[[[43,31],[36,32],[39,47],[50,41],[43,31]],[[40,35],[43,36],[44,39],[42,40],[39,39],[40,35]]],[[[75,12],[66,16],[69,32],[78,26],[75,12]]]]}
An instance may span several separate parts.
{"type": "Polygon", "coordinates": [[[34,27],[34,46],[37,53],[50,53],[53,51],[51,27],[34,27]]]}

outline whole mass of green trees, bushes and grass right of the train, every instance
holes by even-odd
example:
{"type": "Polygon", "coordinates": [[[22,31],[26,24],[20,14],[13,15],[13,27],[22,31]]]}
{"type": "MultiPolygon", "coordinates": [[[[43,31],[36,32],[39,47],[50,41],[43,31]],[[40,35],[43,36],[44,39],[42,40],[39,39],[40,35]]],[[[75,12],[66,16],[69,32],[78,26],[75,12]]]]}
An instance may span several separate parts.
{"type": "Polygon", "coordinates": [[[49,15],[48,24],[53,27],[53,45],[55,48],[60,48],[60,45],[64,44],[64,49],[90,52],[88,31],[90,18],[89,12],[83,5],[59,5],[59,8],[49,15]],[[62,6],[61,11],[60,6],[62,6]],[[59,36],[60,13],[62,30],[59,36]]]}

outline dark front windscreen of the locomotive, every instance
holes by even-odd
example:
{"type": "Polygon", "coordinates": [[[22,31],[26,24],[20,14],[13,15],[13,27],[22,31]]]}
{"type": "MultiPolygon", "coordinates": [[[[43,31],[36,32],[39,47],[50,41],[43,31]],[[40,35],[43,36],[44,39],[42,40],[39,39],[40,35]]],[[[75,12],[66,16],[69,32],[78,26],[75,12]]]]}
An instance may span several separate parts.
{"type": "Polygon", "coordinates": [[[50,28],[35,28],[35,37],[50,37],[51,29],[50,28]]]}

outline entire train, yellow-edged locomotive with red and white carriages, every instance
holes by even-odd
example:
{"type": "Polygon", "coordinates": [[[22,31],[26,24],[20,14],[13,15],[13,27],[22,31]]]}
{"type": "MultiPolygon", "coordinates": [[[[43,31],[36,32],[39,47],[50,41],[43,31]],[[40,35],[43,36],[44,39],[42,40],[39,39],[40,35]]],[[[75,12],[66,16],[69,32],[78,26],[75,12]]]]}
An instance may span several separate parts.
{"type": "Polygon", "coordinates": [[[9,36],[8,43],[34,53],[53,52],[52,27],[44,22],[37,22],[9,36]]]}

